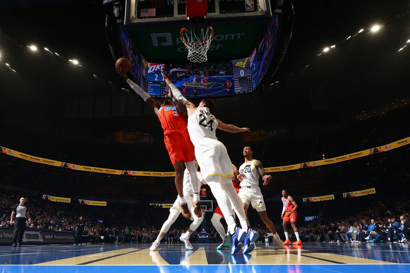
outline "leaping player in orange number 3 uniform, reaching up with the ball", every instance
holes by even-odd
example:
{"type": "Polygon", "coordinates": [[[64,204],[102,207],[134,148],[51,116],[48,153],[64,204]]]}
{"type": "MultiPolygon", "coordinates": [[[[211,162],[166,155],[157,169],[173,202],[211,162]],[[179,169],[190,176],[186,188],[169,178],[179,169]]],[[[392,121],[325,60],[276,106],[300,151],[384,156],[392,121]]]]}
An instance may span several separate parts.
{"type": "Polygon", "coordinates": [[[132,90],[144,99],[144,101],[154,110],[159,121],[161,122],[165,146],[175,169],[175,186],[178,191],[179,203],[181,204],[183,217],[190,219],[192,216],[187,200],[183,196],[182,190],[184,163],[189,171],[192,190],[194,193],[193,201],[196,204],[195,215],[201,217],[202,211],[199,199],[200,185],[195,169],[195,148],[189,138],[187,117],[182,115],[182,112],[172,100],[166,99],[163,103],[161,103],[151,97],[140,86],[129,79],[125,73],[122,73],[121,67],[117,68],[117,73],[124,78],[132,90]]]}

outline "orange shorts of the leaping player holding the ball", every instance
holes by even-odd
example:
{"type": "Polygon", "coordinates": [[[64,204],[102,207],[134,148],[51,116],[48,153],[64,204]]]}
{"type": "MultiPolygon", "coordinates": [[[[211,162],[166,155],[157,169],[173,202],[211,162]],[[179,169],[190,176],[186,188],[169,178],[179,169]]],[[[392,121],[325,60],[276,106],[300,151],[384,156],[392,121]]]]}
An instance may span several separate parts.
{"type": "Polygon", "coordinates": [[[176,162],[191,162],[195,160],[195,148],[188,132],[165,135],[163,141],[173,165],[176,162]]]}

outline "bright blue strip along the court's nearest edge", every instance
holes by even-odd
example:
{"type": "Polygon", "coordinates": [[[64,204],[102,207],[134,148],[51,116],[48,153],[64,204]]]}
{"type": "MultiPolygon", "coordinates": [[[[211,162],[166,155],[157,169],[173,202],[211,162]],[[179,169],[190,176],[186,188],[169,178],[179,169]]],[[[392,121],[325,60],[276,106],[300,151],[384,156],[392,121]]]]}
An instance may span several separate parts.
{"type": "Polygon", "coordinates": [[[244,273],[244,272],[380,272],[394,271],[396,273],[409,272],[410,264],[345,264],[345,265],[0,265],[0,272],[7,273],[244,273]]]}

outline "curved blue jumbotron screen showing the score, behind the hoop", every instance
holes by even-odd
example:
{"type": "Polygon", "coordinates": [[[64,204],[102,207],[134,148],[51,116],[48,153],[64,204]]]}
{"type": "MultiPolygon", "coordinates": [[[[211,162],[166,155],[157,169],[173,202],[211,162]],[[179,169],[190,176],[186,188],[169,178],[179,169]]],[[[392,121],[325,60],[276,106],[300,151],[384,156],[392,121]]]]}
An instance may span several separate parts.
{"type": "Polygon", "coordinates": [[[153,97],[164,97],[168,90],[162,81],[163,70],[187,98],[226,97],[253,92],[264,77],[278,37],[278,15],[273,15],[267,33],[249,56],[202,64],[151,63],[141,53],[135,54],[132,41],[124,28],[121,44],[124,56],[131,60],[133,80],[153,97]]]}

